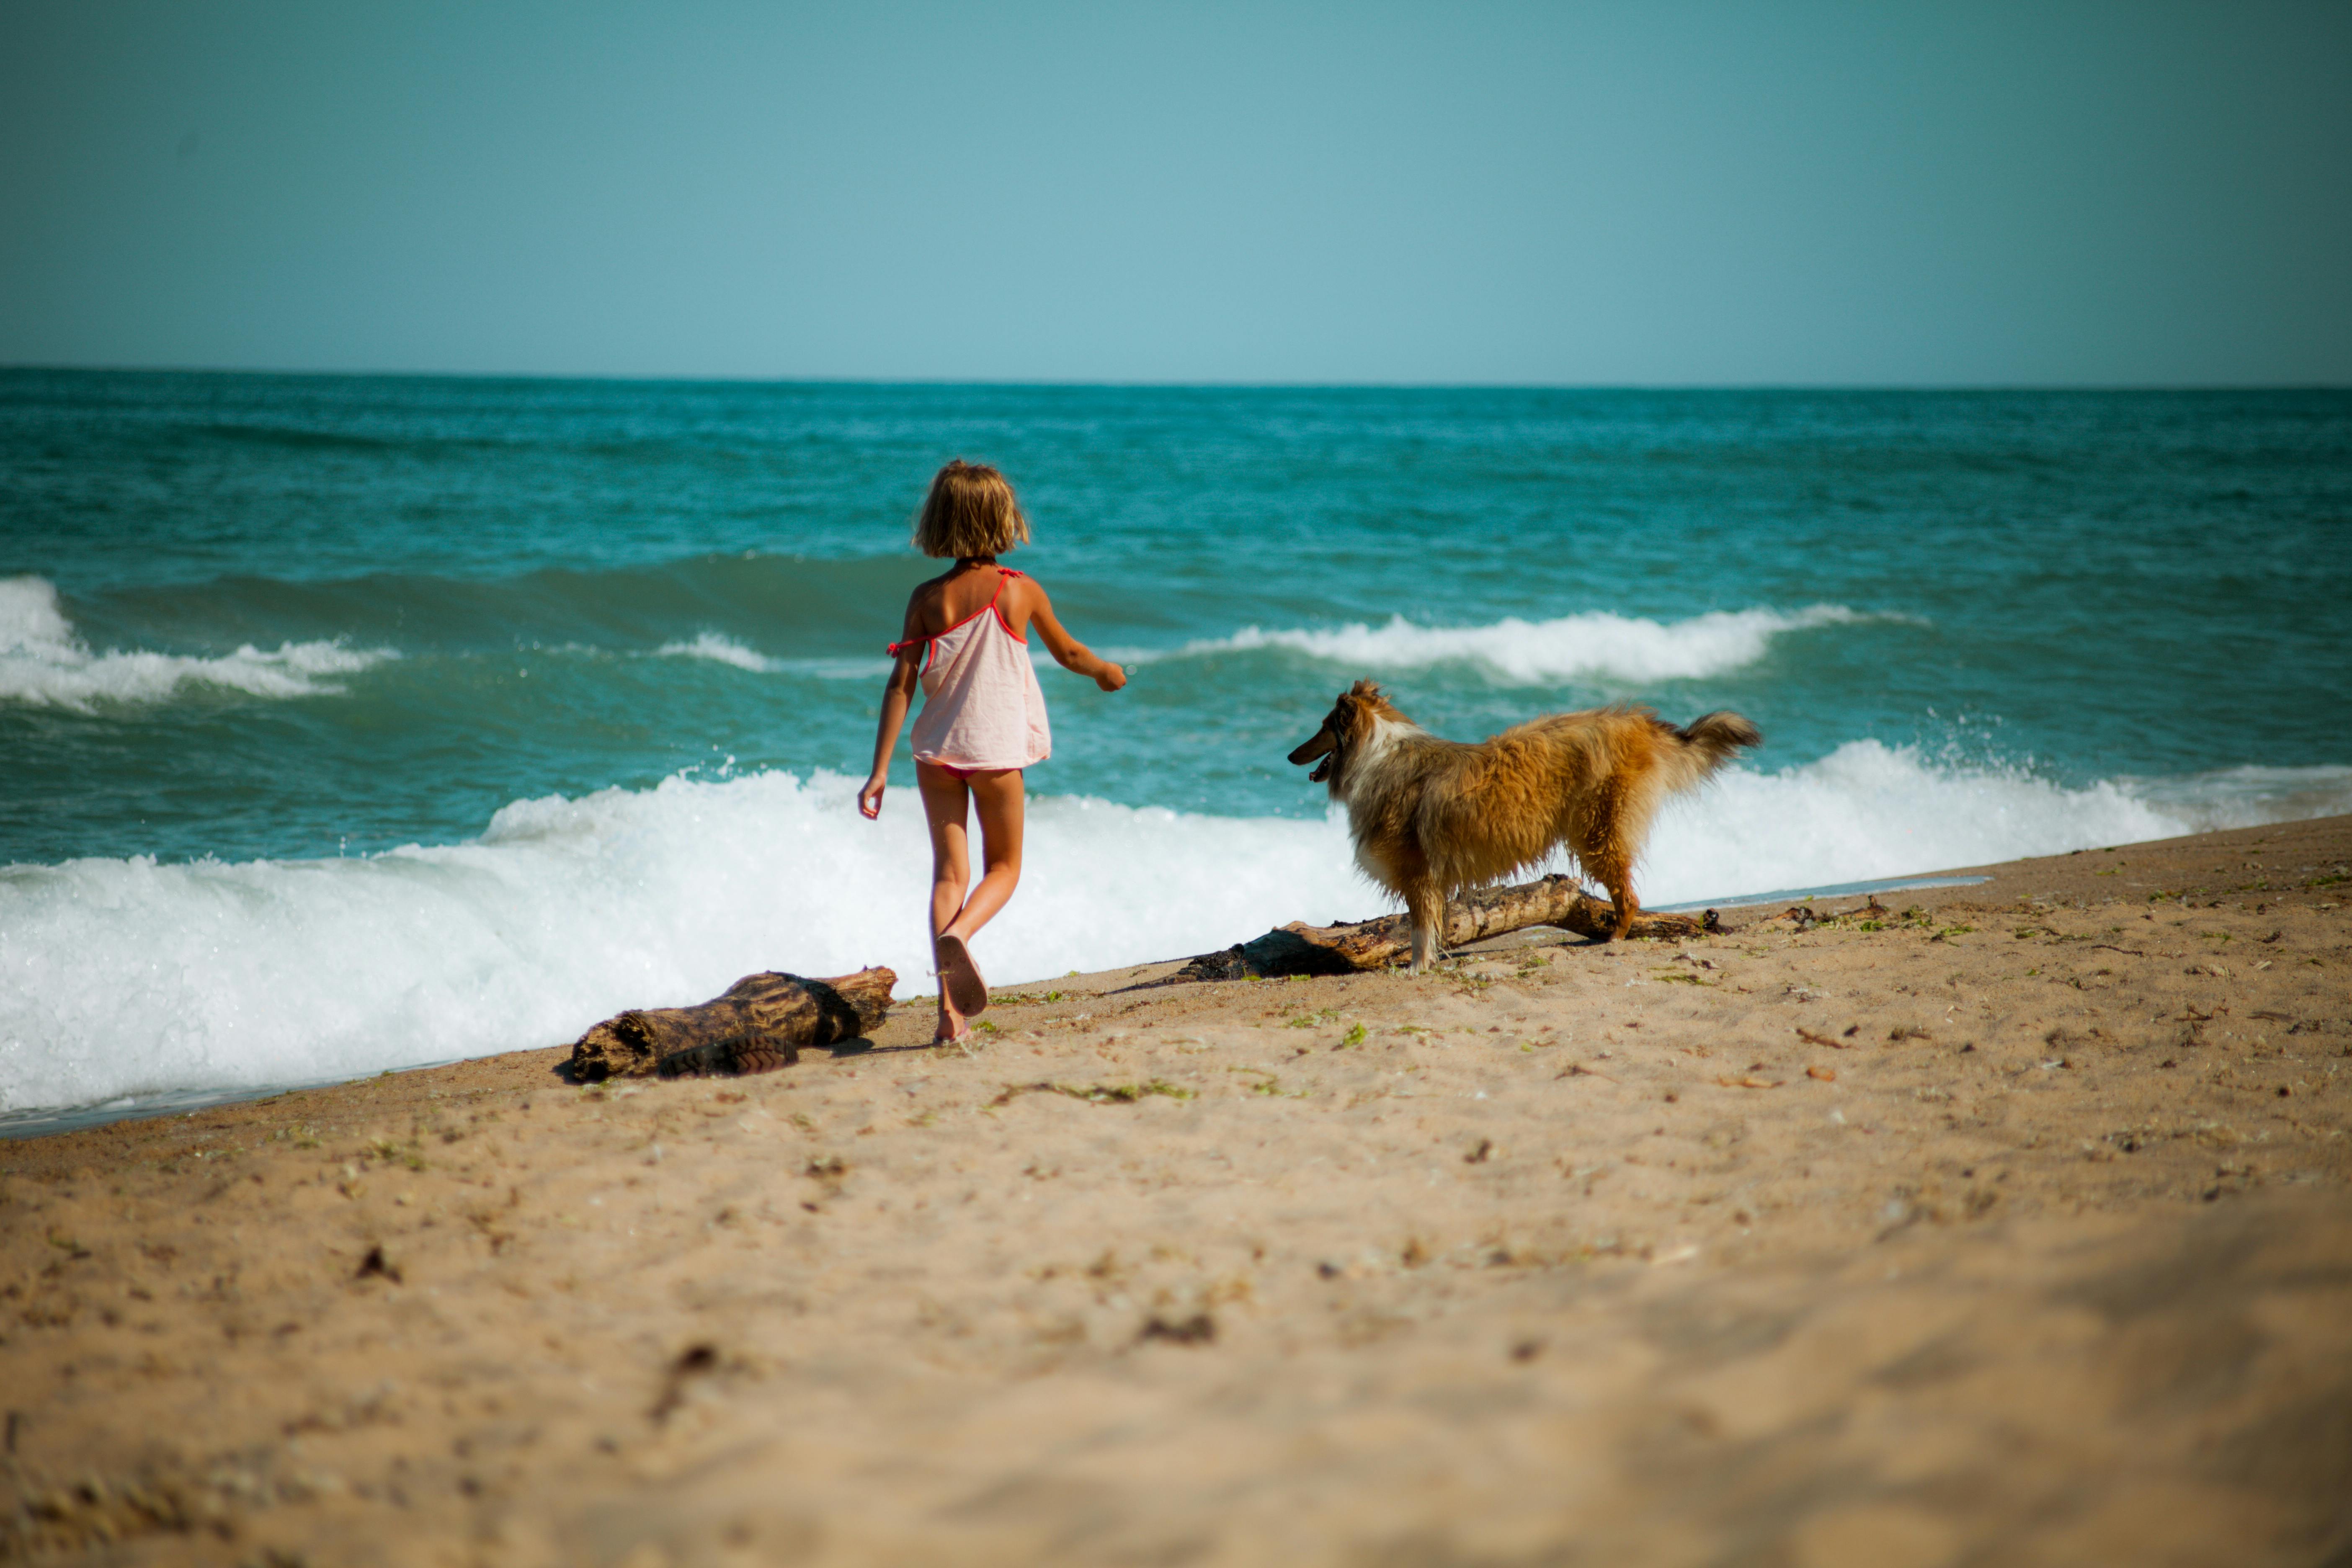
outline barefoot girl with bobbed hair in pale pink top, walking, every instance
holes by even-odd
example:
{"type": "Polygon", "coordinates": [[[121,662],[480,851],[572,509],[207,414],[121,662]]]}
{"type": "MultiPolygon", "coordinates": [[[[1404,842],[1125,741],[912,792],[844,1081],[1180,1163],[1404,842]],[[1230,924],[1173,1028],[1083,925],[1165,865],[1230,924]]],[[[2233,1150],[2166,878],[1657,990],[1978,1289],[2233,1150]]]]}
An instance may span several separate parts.
{"type": "Polygon", "coordinates": [[[1061,630],[1044,588],[997,564],[1000,552],[1021,543],[1028,543],[1028,517],[1004,475],[962,458],[938,470],[915,522],[915,548],[953,557],[955,567],[917,585],[906,602],[906,630],[901,642],[889,644],[896,663],[882,686],[875,771],[858,790],[858,811],[882,816],[889,755],[898,748],[915,682],[922,682],[915,788],[931,820],[934,1044],[967,1039],[967,1020],[988,1011],[988,983],[967,943],[1021,882],[1021,769],[1054,755],[1044,691],[1023,632],[1035,625],[1054,663],[1091,677],[1103,691],[1127,684],[1127,670],[1096,658],[1061,630]],[[971,802],[981,806],[985,872],[967,896],[971,851],[964,820],[971,802]]]}

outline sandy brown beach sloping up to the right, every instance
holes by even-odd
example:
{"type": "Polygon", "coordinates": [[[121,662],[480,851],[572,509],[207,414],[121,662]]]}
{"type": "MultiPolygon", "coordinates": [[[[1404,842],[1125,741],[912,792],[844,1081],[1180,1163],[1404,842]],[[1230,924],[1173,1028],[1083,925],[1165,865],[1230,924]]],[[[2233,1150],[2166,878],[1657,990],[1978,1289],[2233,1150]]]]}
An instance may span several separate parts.
{"type": "Polygon", "coordinates": [[[2343,1561],[2347,863],[0,1145],[0,1556],[2343,1561]]]}

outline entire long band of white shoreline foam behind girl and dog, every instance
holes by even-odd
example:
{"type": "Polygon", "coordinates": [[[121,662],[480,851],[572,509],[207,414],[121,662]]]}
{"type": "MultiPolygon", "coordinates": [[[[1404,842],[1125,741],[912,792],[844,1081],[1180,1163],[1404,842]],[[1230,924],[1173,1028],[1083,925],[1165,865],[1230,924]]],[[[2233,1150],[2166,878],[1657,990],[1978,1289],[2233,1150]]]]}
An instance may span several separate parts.
{"type": "MultiPolygon", "coordinates": [[[[546,1046],[757,969],[889,964],[929,990],[910,790],[880,823],[835,776],[670,778],[515,802],[473,844],[365,860],[0,870],[0,1110],[360,1074],[546,1046]]],[[[2352,769],[2065,790],[1856,741],[1731,771],[1661,818],[1646,903],[1896,877],[2209,825],[2352,811],[2352,769]]],[[[1345,827],[1037,799],[1000,983],[1183,957],[1388,907],[1345,827]]]]}

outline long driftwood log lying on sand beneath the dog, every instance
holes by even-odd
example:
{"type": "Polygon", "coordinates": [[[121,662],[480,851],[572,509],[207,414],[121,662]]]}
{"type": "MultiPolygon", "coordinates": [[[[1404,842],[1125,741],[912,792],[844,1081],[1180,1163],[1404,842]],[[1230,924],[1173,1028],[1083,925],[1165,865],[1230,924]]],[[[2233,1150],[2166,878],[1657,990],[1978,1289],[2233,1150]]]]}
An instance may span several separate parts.
{"type": "MultiPolygon", "coordinates": [[[[1508,889],[1486,889],[1446,900],[1442,947],[1461,947],[1526,926],[1562,926],[1595,940],[1616,931],[1616,910],[1592,898],[1569,877],[1543,877],[1508,889]]],[[[1689,938],[1717,931],[1715,910],[1689,914],[1635,914],[1630,936],[1689,938]]],[[[1244,980],[1249,976],[1348,976],[1402,964],[1414,950],[1414,922],[1404,914],[1357,919],[1338,926],[1291,922],[1254,943],[1204,952],[1185,964],[1178,980],[1244,980]]]]}

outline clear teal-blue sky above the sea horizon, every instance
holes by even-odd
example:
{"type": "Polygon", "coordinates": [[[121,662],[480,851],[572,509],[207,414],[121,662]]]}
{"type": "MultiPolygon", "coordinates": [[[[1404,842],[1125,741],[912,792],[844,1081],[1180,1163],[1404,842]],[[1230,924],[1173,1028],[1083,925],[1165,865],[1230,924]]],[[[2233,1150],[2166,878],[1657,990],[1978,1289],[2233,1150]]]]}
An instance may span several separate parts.
{"type": "Polygon", "coordinates": [[[0,362],[2352,383],[2352,2],[0,0],[0,362]]]}

